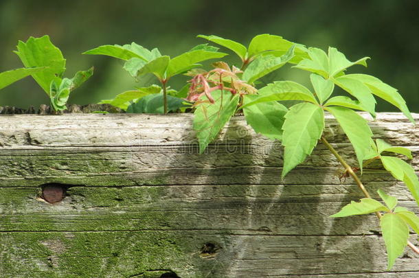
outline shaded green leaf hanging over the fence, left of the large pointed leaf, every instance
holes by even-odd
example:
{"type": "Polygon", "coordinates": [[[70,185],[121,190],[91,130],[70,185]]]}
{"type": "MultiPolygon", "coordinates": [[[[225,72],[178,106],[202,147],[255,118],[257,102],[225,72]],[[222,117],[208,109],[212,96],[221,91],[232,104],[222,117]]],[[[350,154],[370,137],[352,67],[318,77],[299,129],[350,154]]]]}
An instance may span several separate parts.
{"type": "MultiPolygon", "coordinates": [[[[243,102],[246,104],[257,97],[257,95],[244,95],[243,102]]],[[[287,111],[288,109],[278,102],[260,102],[243,108],[247,124],[255,132],[272,140],[282,139],[282,125],[287,111]]]]}

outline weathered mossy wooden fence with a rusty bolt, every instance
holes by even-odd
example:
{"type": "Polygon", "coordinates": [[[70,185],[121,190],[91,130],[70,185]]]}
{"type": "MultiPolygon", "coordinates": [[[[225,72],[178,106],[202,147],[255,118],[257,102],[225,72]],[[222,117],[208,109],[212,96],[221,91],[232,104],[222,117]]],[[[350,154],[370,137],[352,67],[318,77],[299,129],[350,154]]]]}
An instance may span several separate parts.
{"type": "MultiPolygon", "coordinates": [[[[419,170],[418,126],[398,113],[370,125],[419,170]]],[[[419,277],[409,249],[386,271],[373,214],[328,217],[363,196],[324,146],[284,180],[281,165],[280,143],[242,117],[200,155],[192,115],[2,115],[0,277],[419,277]]],[[[380,165],[362,179],[419,213],[380,165]]]]}

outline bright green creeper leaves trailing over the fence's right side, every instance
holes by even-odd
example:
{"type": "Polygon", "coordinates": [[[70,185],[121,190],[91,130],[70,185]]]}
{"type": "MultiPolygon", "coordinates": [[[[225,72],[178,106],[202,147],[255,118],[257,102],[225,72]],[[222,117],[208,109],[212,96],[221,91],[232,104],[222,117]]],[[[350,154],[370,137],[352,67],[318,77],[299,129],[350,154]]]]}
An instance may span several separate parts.
{"type": "MultiPolygon", "coordinates": [[[[308,157],[317,145],[324,131],[325,112],[337,119],[343,132],[352,143],[359,163],[369,159],[381,159],[383,166],[394,178],[403,181],[416,202],[419,204],[419,182],[414,169],[398,157],[382,155],[382,152],[405,154],[411,159],[409,150],[392,147],[381,140],[372,140],[372,131],[367,121],[356,113],[365,111],[375,117],[375,97],[393,104],[408,119],[414,122],[403,97],[396,89],[385,84],[374,76],[358,73],[347,73],[354,65],[367,66],[368,57],[351,62],[334,47],[328,53],[321,49],[295,45],[279,36],[268,34],[256,36],[249,47],[218,36],[201,36],[207,40],[234,51],[242,62],[242,80],[249,84],[257,82],[264,74],[282,67],[286,62],[296,64],[294,67],[310,71],[313,89],[308,89],[292,81],[277,81],[260,89],[255,95],[237,95],[228,91],[216,91],[216,102],[204,102],[196,107],[194,128],[199,138],[200,151],[216,138],[218,132],[234,115],[235,106],[241,103],[248,124],[256,132],[279,139],[284,146],[284,167],[282,177],[308,157]],[[334,95],[335,87],[340,87],[348,95],[334,95]],[[293,100],[298,103],[286,108],[281,101],[293,100]]],[[[411,211],[396,207],[396,198],[378,192],[385,202],[381,205],[374,199],[365,198],[344,207],[334,217],[384,211],[381,218],[383,238],[387,246],[389,268],[398,256],[403,253],[409,237],[409,227],[418,233],[419,219],[411,211]]]]}

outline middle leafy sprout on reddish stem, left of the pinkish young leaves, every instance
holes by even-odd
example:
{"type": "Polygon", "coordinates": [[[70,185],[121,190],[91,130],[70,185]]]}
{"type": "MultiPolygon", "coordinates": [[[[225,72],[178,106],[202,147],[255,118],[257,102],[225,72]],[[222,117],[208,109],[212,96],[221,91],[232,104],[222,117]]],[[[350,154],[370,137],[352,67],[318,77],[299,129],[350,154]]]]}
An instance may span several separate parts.
{"type": "Polygon", "coordinates": [[[165,96],[162,93],[168,94],[166,96],[168,112],[188,107],[188,104],[182,100],[182,97],[186,97],[185,91],[188,90],[188,86],[179,91],[173,89],[166,91],[166,83],[173,76],[201,66],[198,64],[199,62],[223,58],[227,55],[218,52],[217,47],[203,44],[196,45],[190,51],[170,58],[169,56],[162,56],[157,48],[148,50],[141,45],[137,45],[137,43],[131,43],[131,45],[102,45],[85,51],[84,54],[105,55],[124,60],[124,69],[134,78],[152,74],[159,80],[160,86],[153,84],[150,87],[125,91],[113,100],[102,100],[100,102],[117,106],[128,113],[163,113],[163,97],[165,96]]]}

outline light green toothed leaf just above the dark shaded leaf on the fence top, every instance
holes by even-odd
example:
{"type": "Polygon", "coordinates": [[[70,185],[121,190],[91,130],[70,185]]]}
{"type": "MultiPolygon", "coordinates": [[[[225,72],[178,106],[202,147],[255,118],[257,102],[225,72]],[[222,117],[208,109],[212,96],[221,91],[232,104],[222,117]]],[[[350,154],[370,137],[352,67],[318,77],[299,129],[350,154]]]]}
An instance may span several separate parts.
{"type": "Polygon", "coordinates": [[[141,97],[146,95],[156,94],[161,92],[161,87],[157,85],[151,85],[149,87],[137,88],[133,91],[125,91],[120,93],[113,100],[102,100],[99,103],[111,104],[115,107],[119,107],[122,110],[126,111],[128,106],[131,105],[131,102],[137,102],[141,97]]]}

